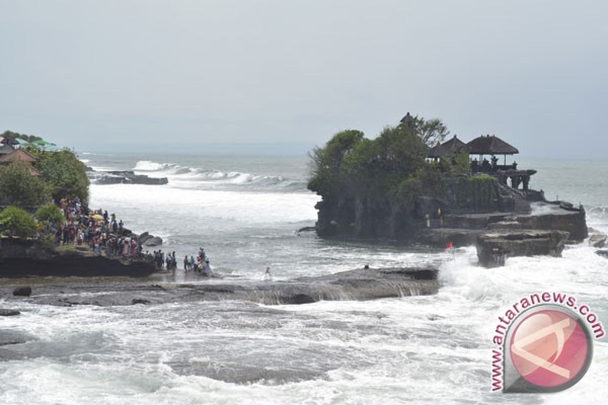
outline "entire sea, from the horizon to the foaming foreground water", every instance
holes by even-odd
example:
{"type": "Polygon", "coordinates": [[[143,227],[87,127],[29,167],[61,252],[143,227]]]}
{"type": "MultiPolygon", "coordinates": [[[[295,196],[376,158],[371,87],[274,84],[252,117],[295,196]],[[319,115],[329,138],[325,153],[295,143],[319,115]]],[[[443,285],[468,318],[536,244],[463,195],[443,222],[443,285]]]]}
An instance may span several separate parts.
{"type": "MultiPolygon", "coordinates": [[[[168,177],[168,185],[91,185],[90,205],[162,237],[179,258],[204,247],[214,272],[275,280],[361,268],[434,266],[437,295],[261,305],[220,301],[52,307],[20,304],[0,327],[35,340],[0,362],[2,404],[604,404],[608,340],[578,384],[553,394],[491,392],[498,316],[523,296],[572,294],[608,327],[608,260],[589,243],[563,257],[478,267],[474,247],[325,240],[308,159],[82,152],[96,170],[168,177]]],[[[608,232],[608,163],[518,160],[530,186],[583,205],[608,232]]],[[[152,249],[152,248],[151,248],[152,249]]],[[[179,267],[181,261],[178,260],[179,267]]],[[[178,270],[175,282],[184,281],[178,270]]],[[[200,281],[206,282],[206,281],[200,281]]],[[[0,300],[0,307],[11,302],[0,300]]]]}

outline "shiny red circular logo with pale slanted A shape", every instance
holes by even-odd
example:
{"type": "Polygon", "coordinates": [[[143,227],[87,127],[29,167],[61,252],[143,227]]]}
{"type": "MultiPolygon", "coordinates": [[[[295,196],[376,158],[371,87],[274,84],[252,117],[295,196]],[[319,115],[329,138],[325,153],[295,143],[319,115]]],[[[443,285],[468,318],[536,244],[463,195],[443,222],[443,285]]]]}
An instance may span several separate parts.
{"type": "Polygon", "coordinates": [[[591,352],[579,322],[558,310],[537,311],[523,319],[511,336],[509,349],[517,372],[541,387],[581,378],[579,373],[586,372],[591,352]]]}

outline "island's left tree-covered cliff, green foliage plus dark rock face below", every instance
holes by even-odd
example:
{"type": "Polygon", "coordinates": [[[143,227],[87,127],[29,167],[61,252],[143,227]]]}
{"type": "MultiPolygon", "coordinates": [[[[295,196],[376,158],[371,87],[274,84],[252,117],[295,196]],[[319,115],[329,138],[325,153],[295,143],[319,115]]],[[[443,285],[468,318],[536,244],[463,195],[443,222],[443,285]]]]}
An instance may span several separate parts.
{"type": "Polygon", "coordinates": [[[418,202],[443,199],[444,175],[454,169],[427,162],[429,146],[448,131],[440,120],[407,115],[374,139],[359,131],[338,132],[311,153],[308,188],[317,204],[317,234],[411,237],[422,226],[418,202]],[[427,200],[429,200],[427,199],[427,200]]]}

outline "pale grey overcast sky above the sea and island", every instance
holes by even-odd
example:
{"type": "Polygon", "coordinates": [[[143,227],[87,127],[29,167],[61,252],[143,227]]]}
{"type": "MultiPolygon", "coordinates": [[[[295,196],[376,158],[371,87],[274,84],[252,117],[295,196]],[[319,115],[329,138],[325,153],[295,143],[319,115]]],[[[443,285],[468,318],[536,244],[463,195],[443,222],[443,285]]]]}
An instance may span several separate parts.
{"type": "Polygon", "coordinates": [[[608,146],[605,0],[0,0],[0,38],[0,131],[81,150],[304,152],[407,111],[534,157],[608,146]]]}

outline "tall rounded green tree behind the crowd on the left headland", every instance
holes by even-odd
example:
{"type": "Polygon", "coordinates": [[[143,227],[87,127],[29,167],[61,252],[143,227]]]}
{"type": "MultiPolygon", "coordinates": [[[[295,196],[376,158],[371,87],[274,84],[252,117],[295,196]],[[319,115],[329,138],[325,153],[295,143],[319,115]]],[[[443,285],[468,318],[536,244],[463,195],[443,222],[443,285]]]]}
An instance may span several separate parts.
{"type": "Polygon", "coordinates": [[[69,149],[58,152],[41,152],[36,167],[49,186],[50,194],[58,201],[63,197],[89,198],[89,179],[86,165],[69,149]]]}

